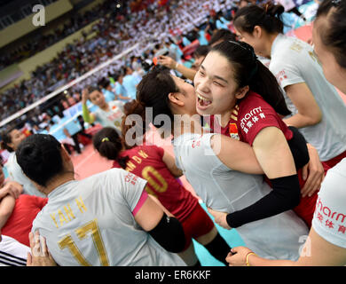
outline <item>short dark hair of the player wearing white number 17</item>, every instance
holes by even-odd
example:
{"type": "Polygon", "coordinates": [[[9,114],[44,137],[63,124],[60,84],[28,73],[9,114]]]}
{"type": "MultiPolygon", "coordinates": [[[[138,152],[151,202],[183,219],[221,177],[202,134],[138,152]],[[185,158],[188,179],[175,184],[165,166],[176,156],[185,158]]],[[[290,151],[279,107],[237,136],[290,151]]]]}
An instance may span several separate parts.
{"type": "Polygon", "coordinates": [[[52,177],[64,170],[61,145],[51,135],[29,136],[18,146],[16,157],[24,174],[38,185],[46,186],[52,177]]]}

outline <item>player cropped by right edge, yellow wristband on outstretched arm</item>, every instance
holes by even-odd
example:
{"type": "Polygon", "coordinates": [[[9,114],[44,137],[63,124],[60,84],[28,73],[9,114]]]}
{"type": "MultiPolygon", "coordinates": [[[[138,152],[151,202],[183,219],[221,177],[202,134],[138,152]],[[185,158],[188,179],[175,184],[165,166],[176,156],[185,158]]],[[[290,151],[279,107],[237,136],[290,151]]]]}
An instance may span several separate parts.
{"type": "MultiPolygon", "coordinates": [[[[345,88],[346,1],[325,0],[318,8],[313,27],[313,41],[323,71],[329,82],[342,91],[345,88]]],[[[330,96],[330,93],[324,93],[330,96]]],[[[329,98],[326,98],[327,100],[329,98]]],[[[334,112],[334,109],[330,109],[334,112]]],[[[346,141],[343,143],[346,145],[346,141]]],[[[312,220],[309,241],[302,251],[308,250],[296,262],[271,261],[256,256],[251,249],[233,248],[230,265],[345,265],[346,264],[346,158],[329,170],[318,193],[318,203],[312,220]],[[333,212],[333,213],[332,213],[333,212]]]]}

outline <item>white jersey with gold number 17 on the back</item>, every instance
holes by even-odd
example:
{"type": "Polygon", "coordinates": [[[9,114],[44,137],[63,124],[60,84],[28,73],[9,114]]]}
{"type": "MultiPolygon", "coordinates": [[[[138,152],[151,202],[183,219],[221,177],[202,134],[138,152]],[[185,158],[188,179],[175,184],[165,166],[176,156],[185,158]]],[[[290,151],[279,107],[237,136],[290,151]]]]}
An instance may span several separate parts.
{"type": "Polygon", "coordinates": [[[69,181],[48,195],[33,222],[59,265],[185,265],[161,248],[135,221],[146,181],[106,170],[69,181]]]}

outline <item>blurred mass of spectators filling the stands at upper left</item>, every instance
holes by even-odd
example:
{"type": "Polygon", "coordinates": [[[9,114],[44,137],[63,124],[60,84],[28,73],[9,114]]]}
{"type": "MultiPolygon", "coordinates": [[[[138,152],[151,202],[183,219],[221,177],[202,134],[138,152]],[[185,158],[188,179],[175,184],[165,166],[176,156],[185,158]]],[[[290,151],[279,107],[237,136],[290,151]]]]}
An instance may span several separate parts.
{"type": "MultiPolygon", "coordinates": [[[[221,1],[206,1],[203,5],[198,1],[170,1],[169,5],[169,12],[166,6],[153,2],[147,4],[145,10],[135,13],[129,10],[116,17],[107,9],[101,10],[99,16],[108,13],[90,31],[97,36],[87,39],[89,35],[84,35],[74,43],[67,44],[55,59],[37,67],[29,80],[0,94],[0,120],[43,98],[64,83],[73,81],[135,43],[139,43],[138,49],[127,54],[126,58],[129,59],[131,55],[141,56],[147,49],[149,51],[146,53],[150,55],[155,43],[162,43],[172,35],[176,43],[180,42],[182,35],[187,35],[194,25],[200,26],[208,20],[210,11],[219,12],[221,8],[230,11],[232,8],[231,1],[225,4],[221,4],[221,1]]],[[[184,38],[185,44],[189,44],[188,39],[184,38]]],[[[82,90],[83,85],[96,84],[101,76],[107,72],[114,74],[114,70],[119,70],[123,64],[122,59],[115,61],[110,67],[77,85],[77,89],[82,90]]]]}

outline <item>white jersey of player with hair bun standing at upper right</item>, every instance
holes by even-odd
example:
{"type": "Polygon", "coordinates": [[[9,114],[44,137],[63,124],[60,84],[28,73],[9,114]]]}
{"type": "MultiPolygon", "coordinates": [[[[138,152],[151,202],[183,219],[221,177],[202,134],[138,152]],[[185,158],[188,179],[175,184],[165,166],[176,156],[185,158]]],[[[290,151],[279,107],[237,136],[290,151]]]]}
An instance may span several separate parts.
{"type": "MultiPolygon", "coordinates": [[[[306,83],[322,112],[322,121],[301,128],[304,138],[318,150],[321,161],[328,161],[346,151],[346,106],[331,83],[326,81],[322,67],[310,44],[279,34],[271,46],[269,69],[279,85],[285,88],[306,83]]],[[[285,94],[292,115],[298,111],[285,94]]]]}

